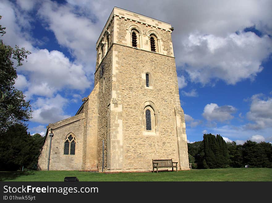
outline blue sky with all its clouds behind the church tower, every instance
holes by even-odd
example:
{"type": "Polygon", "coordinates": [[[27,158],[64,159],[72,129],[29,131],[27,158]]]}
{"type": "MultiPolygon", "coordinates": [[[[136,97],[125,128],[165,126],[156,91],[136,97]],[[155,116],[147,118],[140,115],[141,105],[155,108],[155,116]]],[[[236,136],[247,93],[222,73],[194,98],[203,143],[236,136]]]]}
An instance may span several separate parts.
{"type": "Polygon", "coordinates": [[[74,116],[92,91],[95,44],[114,6],[174,27],[188,142],[203,133],[272,142],[272,2],[249,0],[2,0],[4,43],[32,52],[15,83],[34,110],[30,133],[74,116]]]}

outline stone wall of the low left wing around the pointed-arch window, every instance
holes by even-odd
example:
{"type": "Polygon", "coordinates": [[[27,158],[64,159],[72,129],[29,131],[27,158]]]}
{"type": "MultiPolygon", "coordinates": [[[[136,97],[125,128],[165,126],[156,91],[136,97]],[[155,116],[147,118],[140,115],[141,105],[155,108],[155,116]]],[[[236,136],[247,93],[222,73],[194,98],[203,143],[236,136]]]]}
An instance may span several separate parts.
{"type": "MultiPolygon", "coordinates": [[[[49,170],[81,170],[83,157],[83,131],[84,131],[84,113],[70,117],[54,124],[49,124],[53,129],[54,136],[51,142],[51,155],[49,170]],[[70,132],[76,137],[75,154],[64,154],[64,139],[70,132]]],[[[45,144],[42,148],[38,167],[40,170],[47,170],[49,155],[50,137],[46,136],[45,144]]]]}

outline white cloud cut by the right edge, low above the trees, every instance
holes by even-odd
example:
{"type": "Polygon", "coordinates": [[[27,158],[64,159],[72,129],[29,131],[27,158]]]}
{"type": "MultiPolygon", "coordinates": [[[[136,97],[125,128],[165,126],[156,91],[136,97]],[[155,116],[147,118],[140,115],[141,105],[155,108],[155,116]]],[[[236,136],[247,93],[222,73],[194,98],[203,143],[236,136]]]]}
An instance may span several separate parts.
{"type": "Polygon", "coordinates": [[[272,127],[272,98],[262,94],[251,97],[250,111],[247,118],[254,123],[247,125],[249,129],[264,129],[272,127]]]}

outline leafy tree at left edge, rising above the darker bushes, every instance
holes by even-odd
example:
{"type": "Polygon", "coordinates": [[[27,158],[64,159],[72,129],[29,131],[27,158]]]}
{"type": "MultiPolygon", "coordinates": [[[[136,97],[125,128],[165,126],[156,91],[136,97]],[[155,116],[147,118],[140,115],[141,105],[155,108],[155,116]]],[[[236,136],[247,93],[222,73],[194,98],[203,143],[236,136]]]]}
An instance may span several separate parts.
{"type": "MultiPolygon", "coordinates": [[[[1,37],[6,33],[5,29],[0,25],[1,37]]],[[[15,123],[23,123],[31,118],[29,101],[24,100],[22,91],[13,87],[17,78],[13,60],[18,63],[16,67],[22,66],[28,54],[30,52],[24,48],[19,49],[16,45],[13,49],[0,40],[0,132],[4,132],[15,123]]]]}

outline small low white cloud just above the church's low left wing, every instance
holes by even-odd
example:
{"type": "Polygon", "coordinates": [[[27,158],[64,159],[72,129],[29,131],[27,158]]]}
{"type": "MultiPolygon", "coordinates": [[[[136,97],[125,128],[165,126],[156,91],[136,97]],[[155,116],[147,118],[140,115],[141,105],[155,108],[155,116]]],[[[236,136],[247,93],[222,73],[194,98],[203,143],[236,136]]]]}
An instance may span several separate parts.
{"type": "Polygon", "coordinates": [[[68,103],[69,100],[63,98],[61,95],[57,94],[53,98],[37,98],[32,104],[33,118],[31,121],[48,124],[55,123],[70,117],[71,115],[66,115],[63,108],[68,103]]]}

